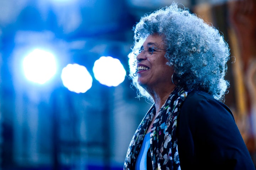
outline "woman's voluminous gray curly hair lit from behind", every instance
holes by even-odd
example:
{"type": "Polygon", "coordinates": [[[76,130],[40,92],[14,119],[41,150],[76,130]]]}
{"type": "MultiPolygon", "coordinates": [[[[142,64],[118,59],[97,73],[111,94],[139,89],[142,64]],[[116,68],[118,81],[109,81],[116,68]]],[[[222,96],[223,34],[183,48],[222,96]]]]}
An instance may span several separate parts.
{"type": "Polygon", "coordinates": [[[135,41],[128,55],[129,76],[138,89],[138,97],[152,99],[137,82],[135,51],[148,35],[157,33],[163,38],[167,65],[174,67],[179,79],[178,86],[205,91],[217,100],[224,99],[229,86],[224,76],[230,53],[228,44],[216,28],[209,26],[187,8],[178,8],[178,4],[172,3],[169,7],[146,14],[133,30],[135,41]]]}

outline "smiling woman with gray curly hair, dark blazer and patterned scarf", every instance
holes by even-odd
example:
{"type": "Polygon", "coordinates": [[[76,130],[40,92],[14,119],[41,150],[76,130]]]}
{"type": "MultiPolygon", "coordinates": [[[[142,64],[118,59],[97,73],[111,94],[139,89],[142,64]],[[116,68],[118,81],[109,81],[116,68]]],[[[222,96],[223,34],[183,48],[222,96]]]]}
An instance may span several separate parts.
{"type": "Polygon", "coordinates": [[[221,101],[228,44],[218,30],[173,3],[134,28],[130,77],[153,100],[124,164],[138,169],[255,169],[230,109],[221,101]]]}

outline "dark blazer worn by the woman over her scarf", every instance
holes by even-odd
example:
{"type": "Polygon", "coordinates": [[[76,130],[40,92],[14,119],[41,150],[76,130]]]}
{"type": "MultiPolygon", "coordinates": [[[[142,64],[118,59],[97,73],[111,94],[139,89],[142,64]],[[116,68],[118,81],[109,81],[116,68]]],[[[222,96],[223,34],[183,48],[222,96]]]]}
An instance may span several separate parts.
{"type": "Polygon", "coordinates": [[[186,97],[177,140],[181,170],[255,170],[230,109],[206,92],[186,97]]]}

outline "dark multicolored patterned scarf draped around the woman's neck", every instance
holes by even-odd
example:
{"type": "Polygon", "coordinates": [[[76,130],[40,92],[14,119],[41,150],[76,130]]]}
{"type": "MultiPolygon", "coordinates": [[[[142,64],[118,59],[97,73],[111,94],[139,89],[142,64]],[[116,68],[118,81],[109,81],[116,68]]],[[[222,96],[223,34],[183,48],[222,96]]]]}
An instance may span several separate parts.
{"type": "MultiPolygon", "coordinates": [[[[177,150],[177,116],[188,92],[176,87],[155,118],[150,133],[150,151],[154,170],[180,170],[177,150]]],[[[130,142],[124,170],[134,170],[144,136],[156,114],[155,104],[149,109],[130,142]]]]}

